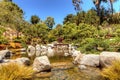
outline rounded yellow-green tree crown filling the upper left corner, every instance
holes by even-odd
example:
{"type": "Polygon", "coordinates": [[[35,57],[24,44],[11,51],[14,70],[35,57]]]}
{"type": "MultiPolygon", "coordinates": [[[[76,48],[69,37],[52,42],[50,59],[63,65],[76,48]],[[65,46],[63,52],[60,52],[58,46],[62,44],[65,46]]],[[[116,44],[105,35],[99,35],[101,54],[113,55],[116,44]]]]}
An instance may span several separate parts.
{"type": "Polygon", "coordinates": [[[0,24],[13,27],[16,19],[21,19],[23,11],[16,4],[12,2],[0,2],[0,24]]]}

